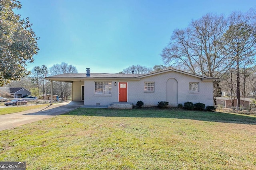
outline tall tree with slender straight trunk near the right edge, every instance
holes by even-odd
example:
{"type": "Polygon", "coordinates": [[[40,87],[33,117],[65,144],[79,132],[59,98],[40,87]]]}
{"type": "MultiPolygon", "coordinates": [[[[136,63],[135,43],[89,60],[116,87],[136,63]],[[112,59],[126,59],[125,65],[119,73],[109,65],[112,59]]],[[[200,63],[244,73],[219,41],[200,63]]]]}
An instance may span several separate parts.
{"type": "Polygon", "coordinates": [[[246,61],[253,60],[256,51],[256,18],[251,12],[233,12],[229,17],[229,29],[223,36],[229,40],[223,45],[224,54],[228,55],[229,61],[234,62],[236,70],[237,109],[240,108],[240,68],[246,61]]]}

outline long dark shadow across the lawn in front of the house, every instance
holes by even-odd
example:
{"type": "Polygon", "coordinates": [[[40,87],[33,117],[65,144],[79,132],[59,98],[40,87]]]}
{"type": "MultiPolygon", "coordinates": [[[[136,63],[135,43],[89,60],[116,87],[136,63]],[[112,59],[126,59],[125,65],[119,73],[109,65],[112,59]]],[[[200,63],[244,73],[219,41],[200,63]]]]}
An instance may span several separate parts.
{"type": "Polygon", "coordinates": [[[78,108],[63,115],[101,116],[101,117],[158,117],[170,119],[192,119],[199,121],[213,121],[222,123],[239,123],[256,125],[256,117],[221,113],[216,111],[187,111],[182,109],[98,109],[78,108]]]}

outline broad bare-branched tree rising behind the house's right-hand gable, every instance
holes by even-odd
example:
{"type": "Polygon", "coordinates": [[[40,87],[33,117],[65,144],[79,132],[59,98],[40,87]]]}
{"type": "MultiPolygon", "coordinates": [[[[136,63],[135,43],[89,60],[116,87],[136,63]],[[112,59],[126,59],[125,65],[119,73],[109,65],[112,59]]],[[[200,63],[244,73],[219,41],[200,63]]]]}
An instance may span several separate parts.
{"type": "Polygon", "coordinates": [[[230,66],[219,42],[226,29],[224,16],[213,14],[192,21],[186,29],[176,29],[162,51],[164,63],[175,68],[186,67],[194,74],[219,76],[230,66]]]}

